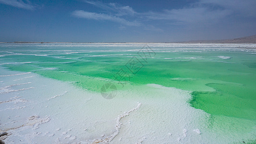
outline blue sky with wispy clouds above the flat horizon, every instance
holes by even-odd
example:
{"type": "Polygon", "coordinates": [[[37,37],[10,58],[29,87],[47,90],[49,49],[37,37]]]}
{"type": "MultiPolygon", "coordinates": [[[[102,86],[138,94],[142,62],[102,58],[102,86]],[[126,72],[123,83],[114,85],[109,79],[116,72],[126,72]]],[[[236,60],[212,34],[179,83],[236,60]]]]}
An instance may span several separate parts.
{"type": "Polygon", "coordinates": [[[0,0],[0,42],[181,42],[256,35],[256,0],[0,0]]]}

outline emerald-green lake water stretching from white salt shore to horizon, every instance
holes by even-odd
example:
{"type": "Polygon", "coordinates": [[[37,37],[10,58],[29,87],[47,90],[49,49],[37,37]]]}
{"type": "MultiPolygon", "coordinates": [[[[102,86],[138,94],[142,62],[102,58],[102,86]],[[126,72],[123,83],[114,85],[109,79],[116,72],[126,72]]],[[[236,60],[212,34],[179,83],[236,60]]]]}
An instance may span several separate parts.
{"type": "Polygon", "coordinates": [[[151,58],[138,55],[144,46],[1,44],[0,63],[9,63],[1,66],[13,71],[35,72],[95,92],[110,81],[120,90],[140,84],[176,87],[191,91],[191,106],[213,116],[256,120],[255,44],[148,44],[154,51],[151,58]],[[133,74],[126,65],[135,58],[141,63],[133,74]],[[122,71],[126,75],[117,81],[122,71]]]}

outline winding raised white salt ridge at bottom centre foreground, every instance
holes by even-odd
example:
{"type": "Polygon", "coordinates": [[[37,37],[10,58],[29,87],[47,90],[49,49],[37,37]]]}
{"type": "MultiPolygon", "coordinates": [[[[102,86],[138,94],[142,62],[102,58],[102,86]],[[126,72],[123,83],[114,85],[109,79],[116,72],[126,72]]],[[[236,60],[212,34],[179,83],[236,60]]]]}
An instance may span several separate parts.
{"type": "Polygon", "coordinates": [[[116,130],[115,132],[113,132],[113,134],[111,134],[110,136],[106,137],[105,139],[100,139],[100,140],[94,140],[93,144],[97,144],[97,143],[100,143],[100,142],[103,142],[103,143],[109,143],[111,142],[120,132],[120,129],[121,129],[121,125],[122,125],[122,118],[128,116],[132,111],[134,110],[137,110],[138,108],[140,108],[142,105],[142,103],[138,103],[138,106],[136,108],[133,108],[131,110],[129,110],[128,112],[124,112],[124,114],[122,115],[119,115],[116,119],[116,130]]]}

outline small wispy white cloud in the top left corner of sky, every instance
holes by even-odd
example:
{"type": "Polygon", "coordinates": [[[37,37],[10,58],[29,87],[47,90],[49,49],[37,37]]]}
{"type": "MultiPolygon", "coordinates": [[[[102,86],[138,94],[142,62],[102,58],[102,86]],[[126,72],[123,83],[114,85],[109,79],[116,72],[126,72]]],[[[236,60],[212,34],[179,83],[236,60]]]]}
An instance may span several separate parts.
{"type": "Polygon", "coordinates": [[[22,0],[0,0],[0,3],[11,5],[16,8],[34,10],[35,6],[33,6],[28,0],[26,1],[27,3],[24,3],[22,0]]]}

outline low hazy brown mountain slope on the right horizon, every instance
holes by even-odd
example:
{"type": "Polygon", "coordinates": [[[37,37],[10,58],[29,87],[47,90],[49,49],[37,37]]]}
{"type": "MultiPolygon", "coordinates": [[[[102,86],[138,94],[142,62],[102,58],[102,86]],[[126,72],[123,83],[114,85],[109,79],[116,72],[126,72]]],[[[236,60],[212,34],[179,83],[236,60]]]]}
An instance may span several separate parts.
{"type": "Polygon", "coordinates": [[[256,35],[223,40],[192,40],[186,43],[256,43],[256,35]]]}

